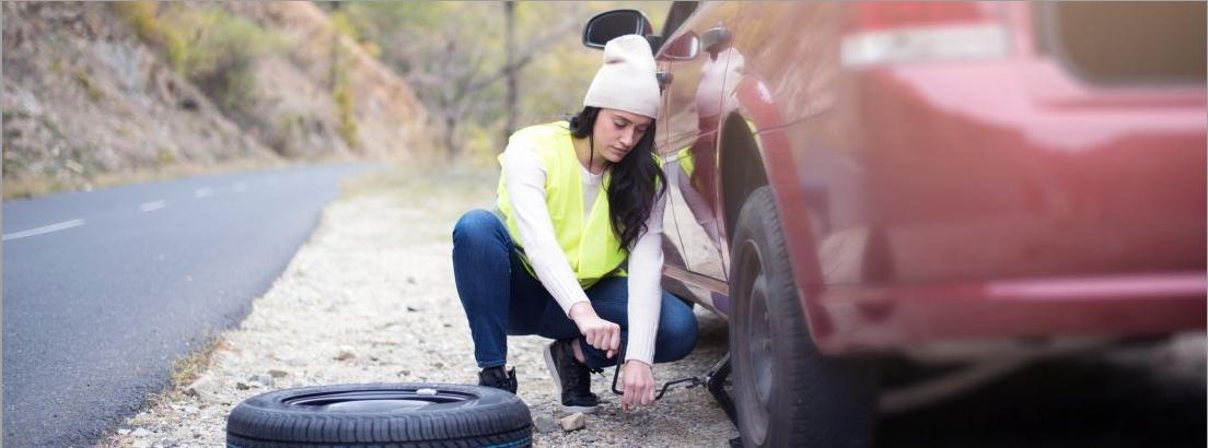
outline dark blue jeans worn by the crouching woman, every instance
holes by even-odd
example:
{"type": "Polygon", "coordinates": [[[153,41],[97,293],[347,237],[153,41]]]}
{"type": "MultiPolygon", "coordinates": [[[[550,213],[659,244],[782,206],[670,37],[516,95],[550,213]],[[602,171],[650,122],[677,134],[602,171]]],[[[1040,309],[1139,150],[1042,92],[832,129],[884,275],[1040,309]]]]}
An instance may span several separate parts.
{"type": "MultiPolygon", "coordinates": [[[[490,211],[471,210],[453,227],[453,277],[461,307],[470,320],[474,357],[478,367],[503,366],[507,361],[507,336],[539,334],[551,339],[580,336],[567,316],[521,263],[507,228],[490,211]]],[[[610,277],[586,291],[602,319],[621,326],[621,347],[628,327],[628,279],[610,277]]],[[[655,337],[655,362],[684,359],[696,347],[697,327],[692,309],[663,292],[655,337]]],[[[616,365],[582,338],[579,339],[587,366],[616,365]]]]}

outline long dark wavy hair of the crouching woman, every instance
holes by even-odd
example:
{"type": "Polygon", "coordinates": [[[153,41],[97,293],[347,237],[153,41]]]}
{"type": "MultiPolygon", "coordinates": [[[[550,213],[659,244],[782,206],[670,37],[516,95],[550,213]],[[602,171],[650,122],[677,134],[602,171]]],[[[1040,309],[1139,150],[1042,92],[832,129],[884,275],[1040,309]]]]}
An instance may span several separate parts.
{"type": "MultiPolygon", "coordinates": [[[[576,139],[588,138],[592,158],[596,157],[596,140],[592,129],[600,109],[585,106],[570,117],[570,135],[576,139]]],[[[667,178],[658,168],[655,158],[655,123],[646,127],[641,140],[625,155],[621,162],[614,163],[608,186],[609,220],[612,232],[621,239],[621,249],[629,252],[638,237],[646,232],[646,219],[655,208],[655,193],[667,192],[667,178]]]]}

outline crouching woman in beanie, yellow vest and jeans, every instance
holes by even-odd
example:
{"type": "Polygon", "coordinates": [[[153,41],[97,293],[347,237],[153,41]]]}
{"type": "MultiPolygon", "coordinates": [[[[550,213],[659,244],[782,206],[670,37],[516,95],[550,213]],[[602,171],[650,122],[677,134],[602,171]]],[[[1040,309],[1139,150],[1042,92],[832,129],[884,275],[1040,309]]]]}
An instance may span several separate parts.
{"type": "Polygon", "coordinates": [[[521,129],[500,156],[496,210],[453,229],[453,272],[481,385],[516,392],[507,334],[554,339],[546,366],[569,412],[593,412],[591,370],[625,347],[623,409],[655,402],[651,366],[696,347],[692,310],[660,289],[666,184],[654,153],[655,60],[645,39],[604,47],[583,109],[521,129]]]}

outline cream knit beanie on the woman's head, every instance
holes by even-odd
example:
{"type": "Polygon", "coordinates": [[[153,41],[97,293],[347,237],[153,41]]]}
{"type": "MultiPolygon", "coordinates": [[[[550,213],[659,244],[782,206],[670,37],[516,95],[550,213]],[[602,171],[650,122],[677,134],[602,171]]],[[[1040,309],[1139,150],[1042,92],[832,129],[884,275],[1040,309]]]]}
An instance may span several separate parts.
{"type": "Polygon", "coordinates": [[[604,45],[604,65],[583,97],[585,106],[623,110],[654,118],[658,114],[658,80],[650,43],[628,34],[604,45]]]}

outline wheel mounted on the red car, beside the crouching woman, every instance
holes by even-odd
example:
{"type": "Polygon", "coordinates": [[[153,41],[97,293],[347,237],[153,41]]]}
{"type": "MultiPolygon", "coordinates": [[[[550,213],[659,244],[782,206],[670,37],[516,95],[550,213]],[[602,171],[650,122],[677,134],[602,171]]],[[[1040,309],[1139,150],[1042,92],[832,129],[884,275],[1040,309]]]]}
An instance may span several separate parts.
{"type": "Polygon", "coordinates": [[[815,349],[769,187],[743,204],[731,248],[730,350],[743,444],[871,446],[873,371],[815,349]]]}

